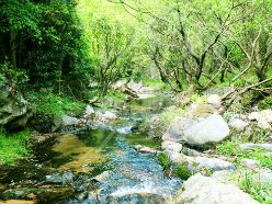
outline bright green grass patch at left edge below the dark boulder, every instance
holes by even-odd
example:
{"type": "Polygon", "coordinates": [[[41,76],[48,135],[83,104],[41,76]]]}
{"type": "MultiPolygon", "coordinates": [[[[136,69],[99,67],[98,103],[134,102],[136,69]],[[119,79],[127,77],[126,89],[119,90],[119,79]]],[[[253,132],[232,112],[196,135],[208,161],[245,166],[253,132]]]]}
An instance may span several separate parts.
{"type": "Polygon", "coordinates": [[[8,134],[0,129],[0,165],[14,165],[18,160],[30,156],[30,131],[8,134]]]}

